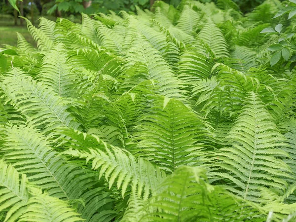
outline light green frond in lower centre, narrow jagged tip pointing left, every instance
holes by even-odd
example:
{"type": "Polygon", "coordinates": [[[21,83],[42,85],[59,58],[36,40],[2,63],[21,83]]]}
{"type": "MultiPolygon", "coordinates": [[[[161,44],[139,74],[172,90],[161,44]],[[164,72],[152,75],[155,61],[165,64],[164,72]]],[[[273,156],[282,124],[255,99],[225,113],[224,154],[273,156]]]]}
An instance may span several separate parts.
{"type": "Polygon", "coordinates": [[[108,145],[100,139],[98,143],[104,148],[89,149],[87,152],[69,149],[65,153],[86,161],[92,160],[92,169],[99,170],[100,177],[105,175],[110,188],[116,183],[122,197],[130,185],[137,186],[137,192],[143,192],[146,198],[151,192],[157,191],[158,185],[165,178],[163,171],[155,169],[151,163],[142,158],[137,160],[127,150],[108,145]]]}

